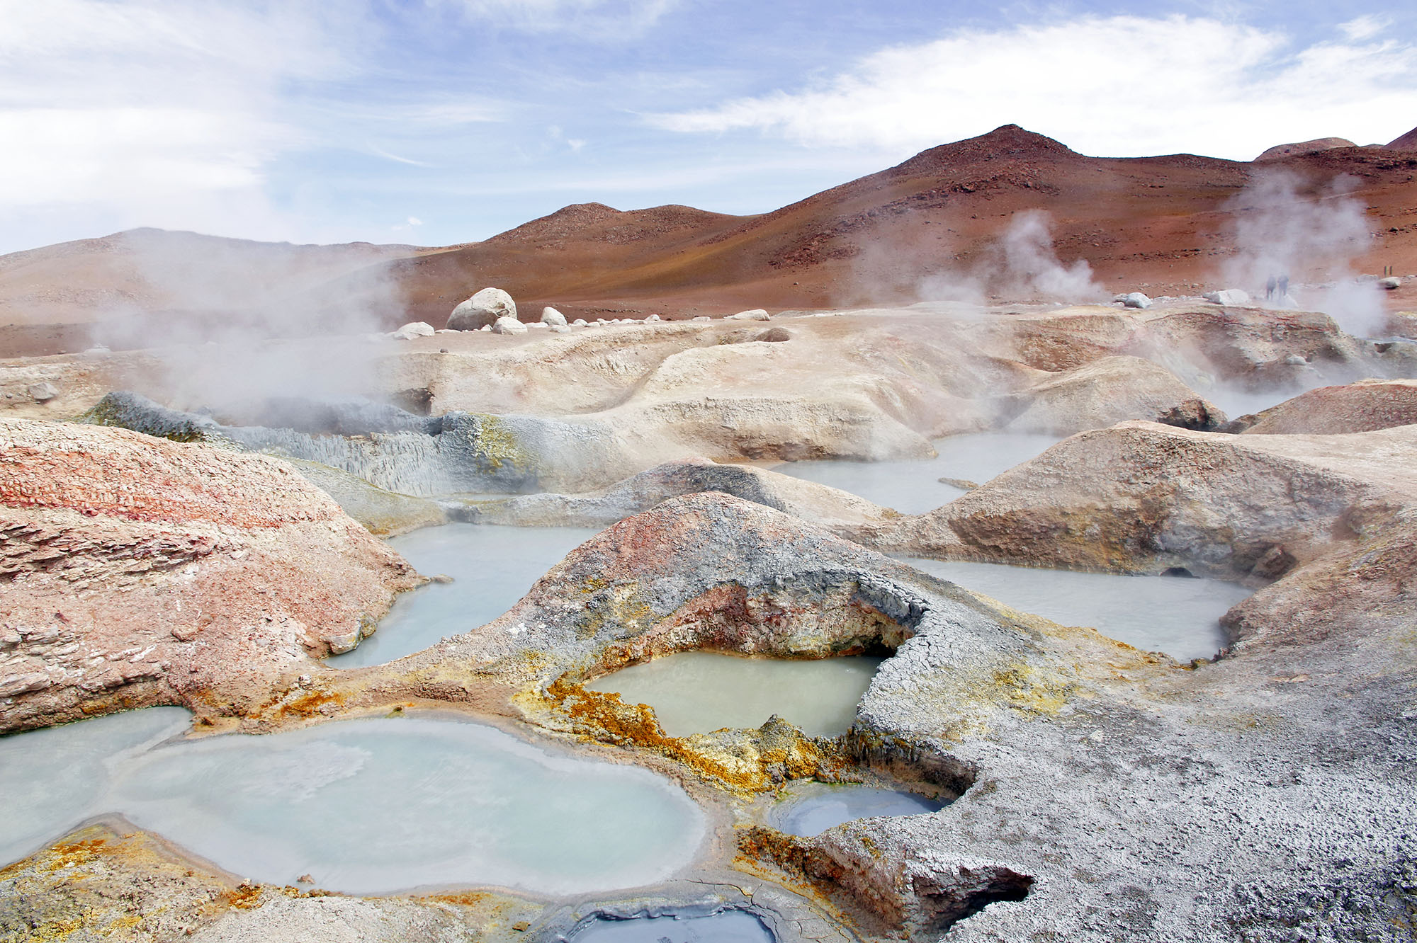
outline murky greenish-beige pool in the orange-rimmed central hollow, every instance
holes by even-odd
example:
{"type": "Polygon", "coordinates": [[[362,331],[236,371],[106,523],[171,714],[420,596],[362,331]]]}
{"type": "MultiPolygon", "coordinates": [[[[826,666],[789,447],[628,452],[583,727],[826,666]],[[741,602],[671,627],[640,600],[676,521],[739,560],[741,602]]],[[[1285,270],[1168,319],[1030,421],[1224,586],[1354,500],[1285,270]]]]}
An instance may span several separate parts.
{"type": "Polygon", "coordinates": [[[614,691],[629,704],[648,704],[669,736],[762,726],[774,714],[812,736],[835,736],[852,726],[856,705],[881,661],[682,651],[621,668],[585,687],[614,691]]]}

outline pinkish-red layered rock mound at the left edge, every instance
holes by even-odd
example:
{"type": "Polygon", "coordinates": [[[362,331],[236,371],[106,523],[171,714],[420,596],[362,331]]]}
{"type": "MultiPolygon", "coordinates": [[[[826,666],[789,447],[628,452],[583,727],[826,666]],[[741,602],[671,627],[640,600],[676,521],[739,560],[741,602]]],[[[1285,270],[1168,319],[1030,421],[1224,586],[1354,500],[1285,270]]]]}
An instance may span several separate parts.
{"type": "Polygon", "coordinates": [[[231,712],[419,582],[289,466],[125,429],[0,421],[0,731],[231,712]]]}

